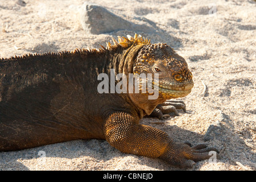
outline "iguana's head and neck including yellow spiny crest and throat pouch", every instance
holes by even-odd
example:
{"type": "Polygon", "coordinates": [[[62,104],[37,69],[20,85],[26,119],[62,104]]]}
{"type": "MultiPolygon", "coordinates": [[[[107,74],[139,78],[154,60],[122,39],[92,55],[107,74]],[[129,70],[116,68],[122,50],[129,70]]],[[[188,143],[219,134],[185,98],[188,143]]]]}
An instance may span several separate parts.
{"type": "MultiPolygon", "coordinates": [[[[141,107],[146,114],[150,114],[156,105],[168,99],[185,97],[191,93],[193,80],[188,64],[167,44],[151,44],[150,40],[137,34],[134,37],[127,35],[127,38],[118,36],[118,42],[115,39],[113,42],[113,46],[107,43],[107,49],[120,46],[125,48],[119,73],[122,72],[125,75],[133,73],[135,77],[142,73],[145,75],[151,73],[152,87],[155,84],[159,88],[158,97],[155,100],[148,100],[149,92],[129,93],[134,104],[141,107]],[[158,81],[154,81],[155,74],[158,74],[158,81]]],[[[145,81],[148,82],[148,77],[145,81]]]]}

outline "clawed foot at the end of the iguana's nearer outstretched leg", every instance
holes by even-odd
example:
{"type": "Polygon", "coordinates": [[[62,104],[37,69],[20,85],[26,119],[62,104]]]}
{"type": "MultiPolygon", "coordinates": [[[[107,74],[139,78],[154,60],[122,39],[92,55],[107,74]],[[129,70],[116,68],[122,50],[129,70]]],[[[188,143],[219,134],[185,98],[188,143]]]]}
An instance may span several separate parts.
{"type": "Polygon", "coordinates": [[[198,144],[194,147],[189,146],[190,143],[172,142],[168,145],[166,152],[160,159],[179,167],[192,168],[195,167],[195,162],[209,159],[213,156],[210,151],[216,152],[216,158],[220,159],[220,153],[215,147],[207,147],[206,144],[198,144]]]}

